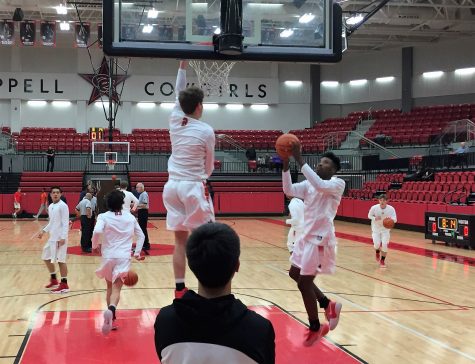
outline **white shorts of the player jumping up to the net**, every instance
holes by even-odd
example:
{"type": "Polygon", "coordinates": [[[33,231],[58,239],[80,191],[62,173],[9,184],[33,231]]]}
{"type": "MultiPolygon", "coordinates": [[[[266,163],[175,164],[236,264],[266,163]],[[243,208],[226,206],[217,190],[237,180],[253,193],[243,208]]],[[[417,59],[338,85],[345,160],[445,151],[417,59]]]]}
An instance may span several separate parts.
{"type": "Polygon", "coordinates": [[[167,230],[191,231],[214,222],[211,196],[204,182],[169,180],[163,188],[167,230]]]}

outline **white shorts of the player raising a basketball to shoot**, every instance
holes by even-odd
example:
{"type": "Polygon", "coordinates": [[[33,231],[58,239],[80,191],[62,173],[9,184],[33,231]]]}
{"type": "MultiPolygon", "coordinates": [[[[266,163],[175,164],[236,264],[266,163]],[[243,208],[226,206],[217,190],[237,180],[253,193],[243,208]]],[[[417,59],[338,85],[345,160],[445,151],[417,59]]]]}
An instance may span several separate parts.
{"type": "Polygon", "coordinates": [[[300,275],[333,274],[336,267],[336,243],[316,245],[303,239],[295,242],[290,263],[300,268],[300,275]]]}

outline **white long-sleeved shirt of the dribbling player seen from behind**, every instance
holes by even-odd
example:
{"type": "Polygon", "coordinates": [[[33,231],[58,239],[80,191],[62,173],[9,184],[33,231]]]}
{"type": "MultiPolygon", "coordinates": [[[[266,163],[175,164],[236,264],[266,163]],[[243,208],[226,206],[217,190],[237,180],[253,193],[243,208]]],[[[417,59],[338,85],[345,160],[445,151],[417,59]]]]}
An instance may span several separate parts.
{"type": "Polygon", "coordinates": [[[104,212],[97,217],[92,235],[92,247],[96,249],[101,244],[102,236],[103,258],[130,258],[134,235],[137,238],[134,255],[139,255],[145,235],[135,217],[130,213],[104,212]]]}

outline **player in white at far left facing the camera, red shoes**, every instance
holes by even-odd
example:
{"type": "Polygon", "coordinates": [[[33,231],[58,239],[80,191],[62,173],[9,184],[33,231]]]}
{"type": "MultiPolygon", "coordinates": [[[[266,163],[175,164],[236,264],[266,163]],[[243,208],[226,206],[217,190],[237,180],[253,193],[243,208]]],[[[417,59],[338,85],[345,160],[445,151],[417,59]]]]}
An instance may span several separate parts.
{"type": "Polygon", "coordinates": [[[52,202],[48,206],[49,223],[39,233],[41,239],[44,233],[49,233],[48,241],[43,247],[41,259],[46,264],[50,273],[50,283],[46,288],[51,289],[51,293],[69,292],[68,286],[68,266],[66,256],[68,251],[69,233],[69,208],[61,200],[62,190],[60,187],[51,187],[50,195],[52,202]],[[54,264],[58,262],[61,282],[56,278],[54,264]]]}

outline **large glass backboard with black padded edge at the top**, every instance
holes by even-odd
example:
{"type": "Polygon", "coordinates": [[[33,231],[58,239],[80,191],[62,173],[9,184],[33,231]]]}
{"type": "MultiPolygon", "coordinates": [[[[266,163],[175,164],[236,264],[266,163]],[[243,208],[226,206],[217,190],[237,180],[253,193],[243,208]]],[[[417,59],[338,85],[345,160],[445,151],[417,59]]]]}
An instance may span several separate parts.
{"type": "Polygon", "coordinates": [[[104,1],[104,51],[213,60],[341,59],[341,8],[332,0],[242,0],[244,48],[238,55],[219,53],[212,44],[221,31],[221,5],[221,0],[104,1]]]}

